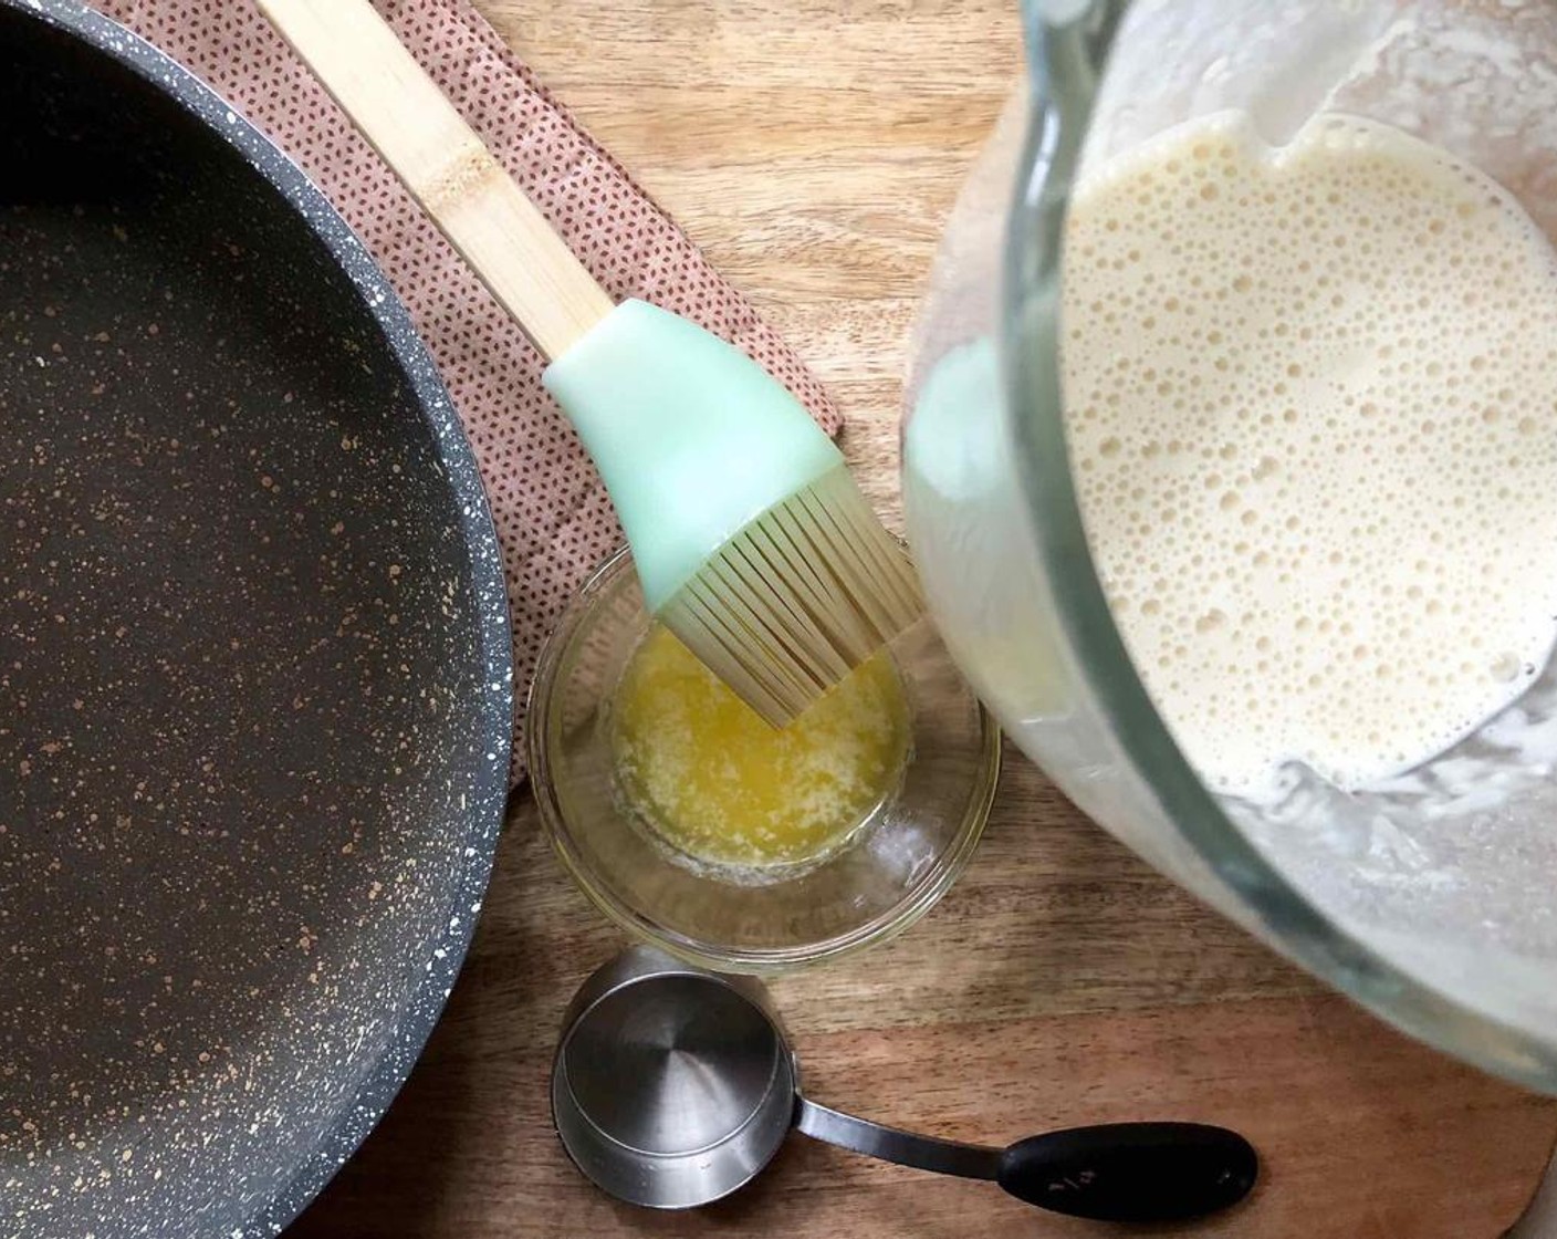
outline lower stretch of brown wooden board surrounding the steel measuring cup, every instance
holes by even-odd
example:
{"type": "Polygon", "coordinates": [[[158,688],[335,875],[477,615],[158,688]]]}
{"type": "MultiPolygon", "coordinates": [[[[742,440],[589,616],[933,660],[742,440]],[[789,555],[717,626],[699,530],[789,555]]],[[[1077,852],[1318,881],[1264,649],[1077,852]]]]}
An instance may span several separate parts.
{"type": "MultiPolygon", "coordinates": [[[[553,863],[526,796],[424,1061],[299,1239],[1118,1234],[800,1136],[712,1209],[613,1205],[564,1156],[547,1078],[568,997],[620,944],[553,863]]],[[[898,941],[774,994],[811,1096],[872,1117],[1001,1142],[1133,1117],[1244,1131],[1264,1156],[1258,1194],[1176,1234],[1495,1239],[1557,1133],[1554,1103],[1325,993],[1104,837],[1015,753],[956,890],[898,941]]]]}

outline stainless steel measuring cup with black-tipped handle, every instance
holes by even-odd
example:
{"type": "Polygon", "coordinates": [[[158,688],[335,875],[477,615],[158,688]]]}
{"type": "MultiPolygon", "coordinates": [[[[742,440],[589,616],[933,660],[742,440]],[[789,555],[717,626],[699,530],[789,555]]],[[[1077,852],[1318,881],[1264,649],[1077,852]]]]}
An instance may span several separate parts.
{"type": "Polygon", "coordinates": [[[766,990],[635,946],[584,982],[551,1072],[551,1113],[575,1164],[632,1205],[685,1209],[750,1181],[791,1127],[867,1156],[987,1178],[1056,1213],[1171,1222],[1224,1209],[1258,1158],[1204,1124],[1077,1127],[1004,1149],[841,1114],[800,1096],[800,1066],[766,990]]]}

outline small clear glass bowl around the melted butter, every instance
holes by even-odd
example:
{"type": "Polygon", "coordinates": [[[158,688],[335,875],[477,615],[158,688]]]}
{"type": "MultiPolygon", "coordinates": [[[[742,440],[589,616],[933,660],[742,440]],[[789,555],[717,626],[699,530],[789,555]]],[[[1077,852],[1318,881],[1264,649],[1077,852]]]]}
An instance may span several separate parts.
{"type": "Polygon", "coordinates": [[[618,793],[610,701],[648,627],[632,558],[621,550],[568,605],[529,690],[540,820],[599,910],[638,938],[726,972],[831,958],[923,916],[972,857],[1000,775],[1000,731],[931,623],[891,647],[911,743],[895,792],[838,851],[760,884],[677,856],[618,793]]]}

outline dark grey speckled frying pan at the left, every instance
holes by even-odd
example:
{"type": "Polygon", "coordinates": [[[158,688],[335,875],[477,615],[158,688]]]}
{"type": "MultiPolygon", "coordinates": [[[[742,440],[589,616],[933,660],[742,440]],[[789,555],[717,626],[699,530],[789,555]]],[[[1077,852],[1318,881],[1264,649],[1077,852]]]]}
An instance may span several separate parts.
{"type": "Polygon", "coordinates": [[[324,198],[0,0],[0,1236],[274,1234],[366,1135],[486,884],[506,614],[324,198]]]}

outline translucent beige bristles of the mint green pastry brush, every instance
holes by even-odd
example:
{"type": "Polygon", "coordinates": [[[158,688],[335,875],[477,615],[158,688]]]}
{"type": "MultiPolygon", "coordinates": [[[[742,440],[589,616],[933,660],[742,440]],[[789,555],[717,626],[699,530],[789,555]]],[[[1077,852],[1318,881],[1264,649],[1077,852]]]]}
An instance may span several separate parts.
{"type": "Polygon", "coordinates": [[[838,468],[719,547],[659,619],[783,726],[923,609],[903,549],[838,468]]]}

